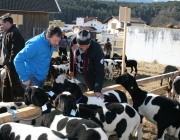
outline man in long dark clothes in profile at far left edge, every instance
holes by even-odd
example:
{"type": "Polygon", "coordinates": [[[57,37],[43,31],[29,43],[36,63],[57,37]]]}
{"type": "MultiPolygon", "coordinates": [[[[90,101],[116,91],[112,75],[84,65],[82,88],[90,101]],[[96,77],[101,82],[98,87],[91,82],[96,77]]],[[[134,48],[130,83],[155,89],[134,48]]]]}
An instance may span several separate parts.
{"type": "Polygon", "coordinates": [[[0,26],[5,32],[2,38],[1,50],[1,61],[6,70],[2,87],[2,101],[12,102],[13,94],[24,94],[13,60],[17,53],[24,47],[25,41],[19,29],[13,25],[13,19],[10,14],[0,17],[0,26]]]}

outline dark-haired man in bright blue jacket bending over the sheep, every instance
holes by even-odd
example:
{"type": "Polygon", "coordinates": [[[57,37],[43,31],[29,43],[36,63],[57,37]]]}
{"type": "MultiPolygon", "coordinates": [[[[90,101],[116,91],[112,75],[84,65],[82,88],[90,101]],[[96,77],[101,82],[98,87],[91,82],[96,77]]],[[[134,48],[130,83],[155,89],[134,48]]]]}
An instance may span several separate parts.
{"type": "Polygon", "coordinates": [[[14,65],[24,89],[26,86],[44,87],[54,47],[58,47],[61,35],[59,27],[49,26],[42,34],[28,40],[17,54],[14,65]]]}

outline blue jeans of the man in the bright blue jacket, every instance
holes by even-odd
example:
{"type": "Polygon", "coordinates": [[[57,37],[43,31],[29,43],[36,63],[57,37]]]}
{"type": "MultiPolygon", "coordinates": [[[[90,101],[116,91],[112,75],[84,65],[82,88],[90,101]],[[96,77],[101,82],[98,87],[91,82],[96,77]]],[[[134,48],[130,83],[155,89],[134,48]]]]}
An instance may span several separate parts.
{"type": "MultiPolygon", "coordinates": [[[[38,86],[38,87],[41,87],[41,88],[44,87],[45,80],[44,81],[38,81],[33,75],[30,75],[29,79],[30,79],[30,85],[29,86],[38,86]]],[[[25,91],[26,86],[23,85],[22,83],[21,83],[21,86],[25,91]]]]}

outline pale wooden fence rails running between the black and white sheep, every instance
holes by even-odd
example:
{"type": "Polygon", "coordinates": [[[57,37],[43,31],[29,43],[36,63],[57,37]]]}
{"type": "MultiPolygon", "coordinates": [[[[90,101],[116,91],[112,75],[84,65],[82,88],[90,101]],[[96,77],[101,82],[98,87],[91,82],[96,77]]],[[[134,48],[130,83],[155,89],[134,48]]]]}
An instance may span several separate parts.
{"type": "MultiPolygon", "coordinates": [[[[162,74],[162,75],[158,75],[158,76],[152,76],[152,77],[148,77],[148,78],[143,78],[143,79],[139,79],[137,80],[138,85],[142,85],[142,84],[147,84],[150,82],[155,82],[157,80],[161,80],[164,78],[168,78],[171,76],[178,76],[180,74],[180,71],[175,71],[175,72],[170,72],[167,74],[162,74]]],[[[106,88],[102,89],[102,92],[108,91],[108,90],[124,90],[124,88],[121,85],[113,85],[113,86],[108,86],[106,88]]],[[[154,89],[150,92],[155,93],[155,94],[161,94],[162,92],[167,90],[167,85],[166,86],[162,86],[160,88],[154,89]]],[[[93,92],[89,91],[84,93],[87,96],[93,96],[93,92]]],[[[38,115],[41,113],[41,110],[39,107],[26,107],[26,108],[22,108],[22,109],[18,109],[16,112],[16,115],[20,118],[29,118],[29,117],[33,117],[35,115],[38,115]]],[[[16,120],[18,120],[16,118],[16,120]]],[[[11,113],[3,113],[0,114],[0,124],[6,123],[6,122],[13,122],[13,115],[11,113]]]]}

